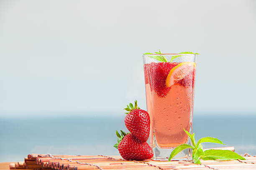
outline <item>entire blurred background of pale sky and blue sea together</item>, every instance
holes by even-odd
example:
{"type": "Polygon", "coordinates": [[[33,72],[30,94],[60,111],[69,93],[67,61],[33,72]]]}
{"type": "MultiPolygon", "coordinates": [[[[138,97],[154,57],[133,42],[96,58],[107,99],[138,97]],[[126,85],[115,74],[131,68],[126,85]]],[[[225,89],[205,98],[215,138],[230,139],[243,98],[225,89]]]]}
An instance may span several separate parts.
{"type": "Polygon", "coordinates": [[[200,53],[196,138],[256,155],[255,30],[255,0],[0,0],[0,162],[118,154],[123,107],[146,108],[141,56],[159,49],[200,53]]]}

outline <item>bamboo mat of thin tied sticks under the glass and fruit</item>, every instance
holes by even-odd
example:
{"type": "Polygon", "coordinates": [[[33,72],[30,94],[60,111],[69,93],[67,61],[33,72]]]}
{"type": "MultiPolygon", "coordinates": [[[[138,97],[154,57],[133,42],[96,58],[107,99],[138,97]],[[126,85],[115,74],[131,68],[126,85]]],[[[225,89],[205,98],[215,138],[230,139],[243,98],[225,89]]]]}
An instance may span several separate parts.
{"type": "Polygon", "coordinates": [[[127,161],[120,156],[29,154],[24,162],[11,163],[10,169],[28,170],[256,170],[256,156],[242,155],[246,160],[127,161]]]}

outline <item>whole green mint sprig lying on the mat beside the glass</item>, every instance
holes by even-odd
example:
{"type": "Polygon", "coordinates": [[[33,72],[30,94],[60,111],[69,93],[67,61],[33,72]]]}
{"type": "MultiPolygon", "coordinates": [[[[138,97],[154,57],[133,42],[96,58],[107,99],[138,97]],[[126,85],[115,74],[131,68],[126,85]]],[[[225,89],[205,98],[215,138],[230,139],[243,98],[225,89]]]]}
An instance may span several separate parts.
{"type": "Polygon", "coordinates": [[[181,152],[184,149],[187,148],[191,148],[193,150],[192,152],[192,158],[193,158],[193,162],[200,164],[200,159],[202,160],[245,160],[245,158],[243,158],[242,156],[238,155],[237,153],[231,151],[231,150],[215,150],[215,149],[211,149],[211,150],[205,150],[203,151],[203,147],[201,145],[201,143],[204,142],[210,142],[210,143],[219,143],[219,144],[223,144],[225,145],[221,140],[217,139],[217,138],[212,138],[212,137],[205,137],[205,138],[201,138],[200,140],[198,140],[197,144],[195,142],[195,133],[190,134],[189,132],[187,132],[187,130],[185,130],[185,133],[187,133],[187,135],[189,136],[192,145],[187,145],[187,144],[182,144],[177,146],[171,153],[170,157],[169,157],[169,161],[172,160],[172,158],[177,155],[179,152],[181,152]]]}

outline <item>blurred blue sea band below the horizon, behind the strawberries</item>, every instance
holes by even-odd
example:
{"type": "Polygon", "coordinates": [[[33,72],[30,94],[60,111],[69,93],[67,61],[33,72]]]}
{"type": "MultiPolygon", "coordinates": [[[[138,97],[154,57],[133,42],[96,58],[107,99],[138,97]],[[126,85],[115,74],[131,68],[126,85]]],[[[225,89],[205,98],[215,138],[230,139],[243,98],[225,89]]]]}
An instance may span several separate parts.
{"type": "MultiPolygon", "coordinates": [[[[0,120],[0,162],[23,160],[29,153],[118,155],[115,130],[128,130],[125,114],[89,117],[24,117],[0,120]]],[[[194,116],[196,140],[219,138],[226,145],[203,143],[204,148],[234,146],[237,153],[256,155],[256,116],[194,116]]],[[[202,113],[203,114],[203,113],[202,113]]]]}

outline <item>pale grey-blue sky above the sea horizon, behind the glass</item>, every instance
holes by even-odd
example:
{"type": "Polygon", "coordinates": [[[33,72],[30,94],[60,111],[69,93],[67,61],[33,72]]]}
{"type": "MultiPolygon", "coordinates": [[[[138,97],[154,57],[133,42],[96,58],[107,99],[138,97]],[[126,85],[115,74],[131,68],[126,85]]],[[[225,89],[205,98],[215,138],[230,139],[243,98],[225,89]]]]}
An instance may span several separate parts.
{"type": "Polygon", "coordinates": [[[142,54],[193,51],[195,113],[255,114],[256,2],[0,1],[0,116],[146,109],[142,54]]]}

